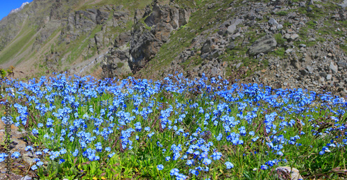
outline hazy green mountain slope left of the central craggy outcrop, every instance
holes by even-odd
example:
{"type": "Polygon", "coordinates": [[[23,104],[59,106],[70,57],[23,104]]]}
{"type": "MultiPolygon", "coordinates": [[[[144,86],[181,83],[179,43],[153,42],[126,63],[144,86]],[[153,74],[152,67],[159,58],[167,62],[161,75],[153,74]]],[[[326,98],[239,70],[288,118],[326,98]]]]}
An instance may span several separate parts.
{"type": "Polygon", "coordinates": [[[134,9],[144,8],[150,2],[33,1],[0,22],[1,67],[14,65],[17,77],[60,72],[70,67],[79,72],[77,68],[82,67],[77,64],[94,60],[107,51],[117,33],[131,28],[134,9]],[[124,14],[119,17],[115,12],[124,14]]]}

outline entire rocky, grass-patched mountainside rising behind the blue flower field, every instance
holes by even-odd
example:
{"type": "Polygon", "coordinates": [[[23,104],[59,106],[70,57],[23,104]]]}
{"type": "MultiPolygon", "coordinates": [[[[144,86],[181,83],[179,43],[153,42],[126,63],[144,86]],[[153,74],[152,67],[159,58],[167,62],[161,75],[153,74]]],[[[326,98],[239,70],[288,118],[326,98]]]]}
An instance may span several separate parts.
{"type": "Polygon", "coordinates": [[[18,77],[32,69],[151,79],[183,72],[346,97],[346,6],[346,0],[34,0],[0,22],[0,63],[24,72],[18,77]]]}

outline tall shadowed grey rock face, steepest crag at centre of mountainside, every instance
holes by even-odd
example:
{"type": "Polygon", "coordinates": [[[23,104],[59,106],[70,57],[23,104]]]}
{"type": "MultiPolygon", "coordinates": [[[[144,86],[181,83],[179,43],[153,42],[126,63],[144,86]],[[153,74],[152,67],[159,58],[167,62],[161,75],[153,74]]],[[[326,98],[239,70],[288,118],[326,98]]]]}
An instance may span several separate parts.
{"type": "Polygon", "coordinates": [[[153,10],[146,9],[142,17],[144,24],[137,22],[130,40],[129,66],[133,72],[144,67],[158,53],[162,44],[167,42],[171,31],[187,24],[191,14],[190,9],[176,8],[176,6],[159,5],[155,3],[153,10]]]}

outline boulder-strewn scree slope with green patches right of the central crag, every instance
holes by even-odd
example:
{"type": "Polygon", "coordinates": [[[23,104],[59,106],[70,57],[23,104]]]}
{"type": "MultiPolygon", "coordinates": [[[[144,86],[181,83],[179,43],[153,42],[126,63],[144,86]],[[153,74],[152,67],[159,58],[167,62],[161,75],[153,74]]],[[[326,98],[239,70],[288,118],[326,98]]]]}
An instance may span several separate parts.
{"type": "MultiPolygon", "coordinates": [[[[137,72],[136,68],[145,64],[139,72],[139,76],[145,77],[151,76],[149,74],[165,76],[183,72],[192,78],[203,73],[228,78],[238,73],[243,74],[239,77],[247,82],[264,83],[274,88],[305,88],[316,92],[328,90],[346,97],[347,31],[343,25],[347,24],[347,11],[343,2],[278,0],[269,3],[241,1],[238,6],[235,1],[227,6],[225,4],[211,2],[201,6],[202,11],[216,10],[215,19],[220,19],[219,22],[209,22],[207,19],[205,24],[213,26],[196,33],[190,41],[185,38],[187,46],[182,47],[179,54],[169,57],[169,65],[164,65],[164,58],[161,57],[164,54],[162,51],[167,49],[155,54],[162,43],[157,43],[157,47],[145,43],[130,45],[130,56],[126,57],[130,69],[137,72]],[[228,12],[224,21],[218,17],[222,10],[228,12]],[[142,60],[133,60],[139,57],[131,53],[134,51],[147,54],[144,56],[140,53],[142,60]],[[153,62],[149,62],[151,60],[153,62]],[[132,65],[134,61],[137,62],[136,67],[132,65]],[[155,64],[158,64],[157,68],[155,64]]],[[[156,14],[155,9],[159,8],[153,6],[153,14],[156,14]]],[[[185,27],[185,32],[197,32],[194,23],[189,22],[187,25],[190,26],[185,27]]],[[[137,35],[131,37],[130,42],[153,42],[151,38],[158,31],[156,27],[160,26],[159,23],[154,24],[152,33],[132,31],[132,35],[137,35]]],[[[180,29],[174,33],[180,33],[180,29]]],[[[181,39],[178,38],[178,43],[181,39]]],[[[174,41],[174,38],[165,36],[162,42],[167,42],[169,46],[171,40],[174,41]]],[[[178,43],[171,48],[180,46],[178,43]]],[[[105,68],[109,61],[104,61],[104,72],[105,69],[117,72],[105,68]]]]}

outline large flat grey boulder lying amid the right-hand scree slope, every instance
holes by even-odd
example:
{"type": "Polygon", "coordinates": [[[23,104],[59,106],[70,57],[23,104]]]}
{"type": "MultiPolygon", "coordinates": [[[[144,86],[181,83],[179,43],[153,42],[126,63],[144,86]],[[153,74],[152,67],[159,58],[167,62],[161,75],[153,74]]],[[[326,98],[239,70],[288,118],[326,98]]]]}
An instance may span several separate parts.
{"type": "Polygon", "coordinates": [[[248,49],[248,54],[255,56],[260,53],[268,53],[269,51],[275,49],[277,42],[275,38],[271,35],[265,35],[264,37],[256,40],[250,49],[248,49]]]}

